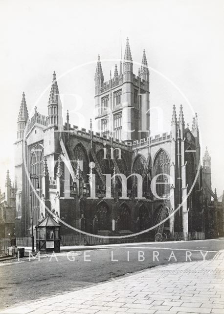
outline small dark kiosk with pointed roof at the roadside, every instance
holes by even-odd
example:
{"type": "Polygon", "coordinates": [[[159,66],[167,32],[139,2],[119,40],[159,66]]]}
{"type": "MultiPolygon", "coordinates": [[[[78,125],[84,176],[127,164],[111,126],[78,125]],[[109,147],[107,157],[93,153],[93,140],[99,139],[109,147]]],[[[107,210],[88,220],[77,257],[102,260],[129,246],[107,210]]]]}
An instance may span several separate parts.
{"type": "Polygon", "coordinates": [[[47,215],[36,226],[37,252],[55,253],[60,252],[60,225],[47,215]]]}

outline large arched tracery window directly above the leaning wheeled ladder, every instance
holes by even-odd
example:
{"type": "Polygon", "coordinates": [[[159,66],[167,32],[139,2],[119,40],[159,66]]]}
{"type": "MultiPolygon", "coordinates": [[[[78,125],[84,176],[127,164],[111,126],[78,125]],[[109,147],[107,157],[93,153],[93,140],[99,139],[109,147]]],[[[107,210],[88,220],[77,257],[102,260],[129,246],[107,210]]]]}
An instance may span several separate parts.
{"type": "Polygon", "coordinates": [[[157,178],[156,191],[157,195],[164,197],[170,193],[170,184],[167,175],[170,175],[170,158],[163,150],[157,153],[157,157],[154,161],[154,173],[155,176],[161,174],[157,178]]]}

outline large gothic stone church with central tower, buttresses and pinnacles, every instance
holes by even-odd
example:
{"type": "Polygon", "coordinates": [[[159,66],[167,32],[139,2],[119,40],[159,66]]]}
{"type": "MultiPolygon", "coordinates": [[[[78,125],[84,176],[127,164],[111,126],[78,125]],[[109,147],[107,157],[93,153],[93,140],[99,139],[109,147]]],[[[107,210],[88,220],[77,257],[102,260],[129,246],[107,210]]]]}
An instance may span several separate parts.
{"type": "MultiPolygon", "coordinates": [[[[131,235],[159,222],[164,206],[164,217],[167,217],[181,203],[180,209],[164,223],[163,232],[168,237],[182,233],[187,239],[188,233],[192,232],[201,232],[206,237],[211,231],[217,235],[218,218],[211,202],[211,197],[215,201],[217,196],[211,189],[211,160],[207,151],[203,166],[200,166],[197,115],[189,129],[184,122],[182,105],[179,116],[174,105],[170,116],[171,130],[151,137],[149,94],[145,51],[136,76],[128,39],[119,73],[115,65],[109,81],[104,81],[98,56],[95,121],[99,132],[92,131],[91,121],[90,130],[72,126],[68,112],[67,122],[63,124],[55,72],[47,116],[37,112],[36,108],[34,115],[29,117],[22,94],[15,143],[16,236],[29,236],[31,210],[35,226],[47,214],[45,207],[60,222],[62,235],[77,233],[63,222],[91,234],[131,235]],[[142,117],[145,117],[146,130],[139,132],[142,117]],[[82,167],[79,162],[67,160],[80,160],[82,167]],[[92,169],[90,165],[93,163],[90,162],[95,164],[92,169]],[[29,173],[36,174],[40,182],[39,197],[32,191],[32,202],[29,173]],[[95,176],[95,198],[90,198],[90,173],[95,176]],[[128,178],[127,196],[122,197],[121,180],[116,175],[119,173],[126,177],[133,173],[142,176],[143,198],[138,198],[134,176],[128,178]],[[113,178],[110,198],[106,198],[105,174],[111,174],[113,178]],[[157,176],[159,174],[162,175],[157,176]],[[172,184],[167,184],[165,174],[171,176],[172,184]],[[155,176],[160,183],[156,186],[156,194],[151,190],[155,176]],[[166,195],[170,197],[164,201],[166,195]]],[[[31,180],[31,183],[32,190],[37,189],[37,180],[31,180]]],[[[220,228],[221,232],[222,223],[220,228]]],[[[154,238],[155,232],[154,229],[141,236],[154,238]]]]}

